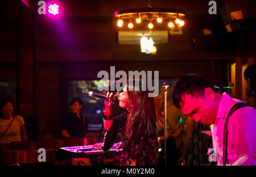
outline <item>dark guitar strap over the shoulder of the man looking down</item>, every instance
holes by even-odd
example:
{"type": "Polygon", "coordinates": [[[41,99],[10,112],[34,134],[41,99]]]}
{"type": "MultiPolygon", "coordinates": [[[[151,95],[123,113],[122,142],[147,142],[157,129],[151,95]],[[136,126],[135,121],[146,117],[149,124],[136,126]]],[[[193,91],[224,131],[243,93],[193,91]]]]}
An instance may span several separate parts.
{"type": "Polygon", "coordinates": [[[227,158],[227,154],[228,154],[228,121],[229,121],[229,117],[239,108],[241,107],[246,107],[247,104],[240,102],[235,104],[229,111],[228,113],[228,117],[226,117],[226,121],[225,121],[225,127],[224,127],[224,135],[223,135],[223,165],[226,165],[226,158],[227,158]]]}

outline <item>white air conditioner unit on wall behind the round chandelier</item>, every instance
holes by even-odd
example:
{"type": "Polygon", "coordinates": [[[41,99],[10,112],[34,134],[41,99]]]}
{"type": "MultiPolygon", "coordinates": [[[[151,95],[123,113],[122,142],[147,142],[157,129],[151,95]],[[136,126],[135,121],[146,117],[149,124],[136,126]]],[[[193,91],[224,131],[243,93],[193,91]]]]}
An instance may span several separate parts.
{"type": "Polygon", "coordinates": [[[155,44],[168,42],[168,31],[118,31],[119,44],[141,44],[141,37],[152,37],[155,44]]]}

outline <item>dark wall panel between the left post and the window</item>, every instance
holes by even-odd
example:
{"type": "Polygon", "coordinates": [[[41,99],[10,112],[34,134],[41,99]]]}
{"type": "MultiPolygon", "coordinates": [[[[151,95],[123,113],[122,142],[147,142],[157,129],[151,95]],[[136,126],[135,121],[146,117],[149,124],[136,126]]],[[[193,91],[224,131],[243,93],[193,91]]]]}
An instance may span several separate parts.
{"type": "Polygon", "coordinates": [[[39,66],[39,134],[55,138],[60,133],[59,65],[39,66]]]}

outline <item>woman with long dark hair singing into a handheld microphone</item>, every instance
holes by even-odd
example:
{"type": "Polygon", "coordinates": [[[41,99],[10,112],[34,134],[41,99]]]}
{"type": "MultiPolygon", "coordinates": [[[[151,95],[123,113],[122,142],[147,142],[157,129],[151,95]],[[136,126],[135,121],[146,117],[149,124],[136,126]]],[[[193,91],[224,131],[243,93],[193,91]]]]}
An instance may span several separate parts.
{"type": "Polygon", "coordinates": [[[126,109],[126,112],[117,117],[112,118],[113,93],[106,93],[110,101],[105,101],[104,127],[107,133],[102,149],[108,150],[114,143],[117,130],[124,127],[125,139],[122,141],[121,165],[157,165],[159,143],[156,121],[158,111],[154,98],[148,97],[149,91],[142,91],[142,82],[133,82],[138,82],[139,88],[135,89],[136,84],[131,86],[130,82],[123,88],[123,92],[119,94],[119,106],[126,109]]]}

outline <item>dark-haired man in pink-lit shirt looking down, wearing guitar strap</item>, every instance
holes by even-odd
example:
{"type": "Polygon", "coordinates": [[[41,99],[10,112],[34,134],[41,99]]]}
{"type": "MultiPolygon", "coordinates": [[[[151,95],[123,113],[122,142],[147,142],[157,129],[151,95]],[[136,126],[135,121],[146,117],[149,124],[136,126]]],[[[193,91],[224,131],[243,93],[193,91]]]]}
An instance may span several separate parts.
{"type": "Polygon", "coordinates": [[[217,165],[256,165],[256,111],[220,94],[199,75],[185,75],[172,87],[174,105],[195,121],[211,125],[217,165]]]}

